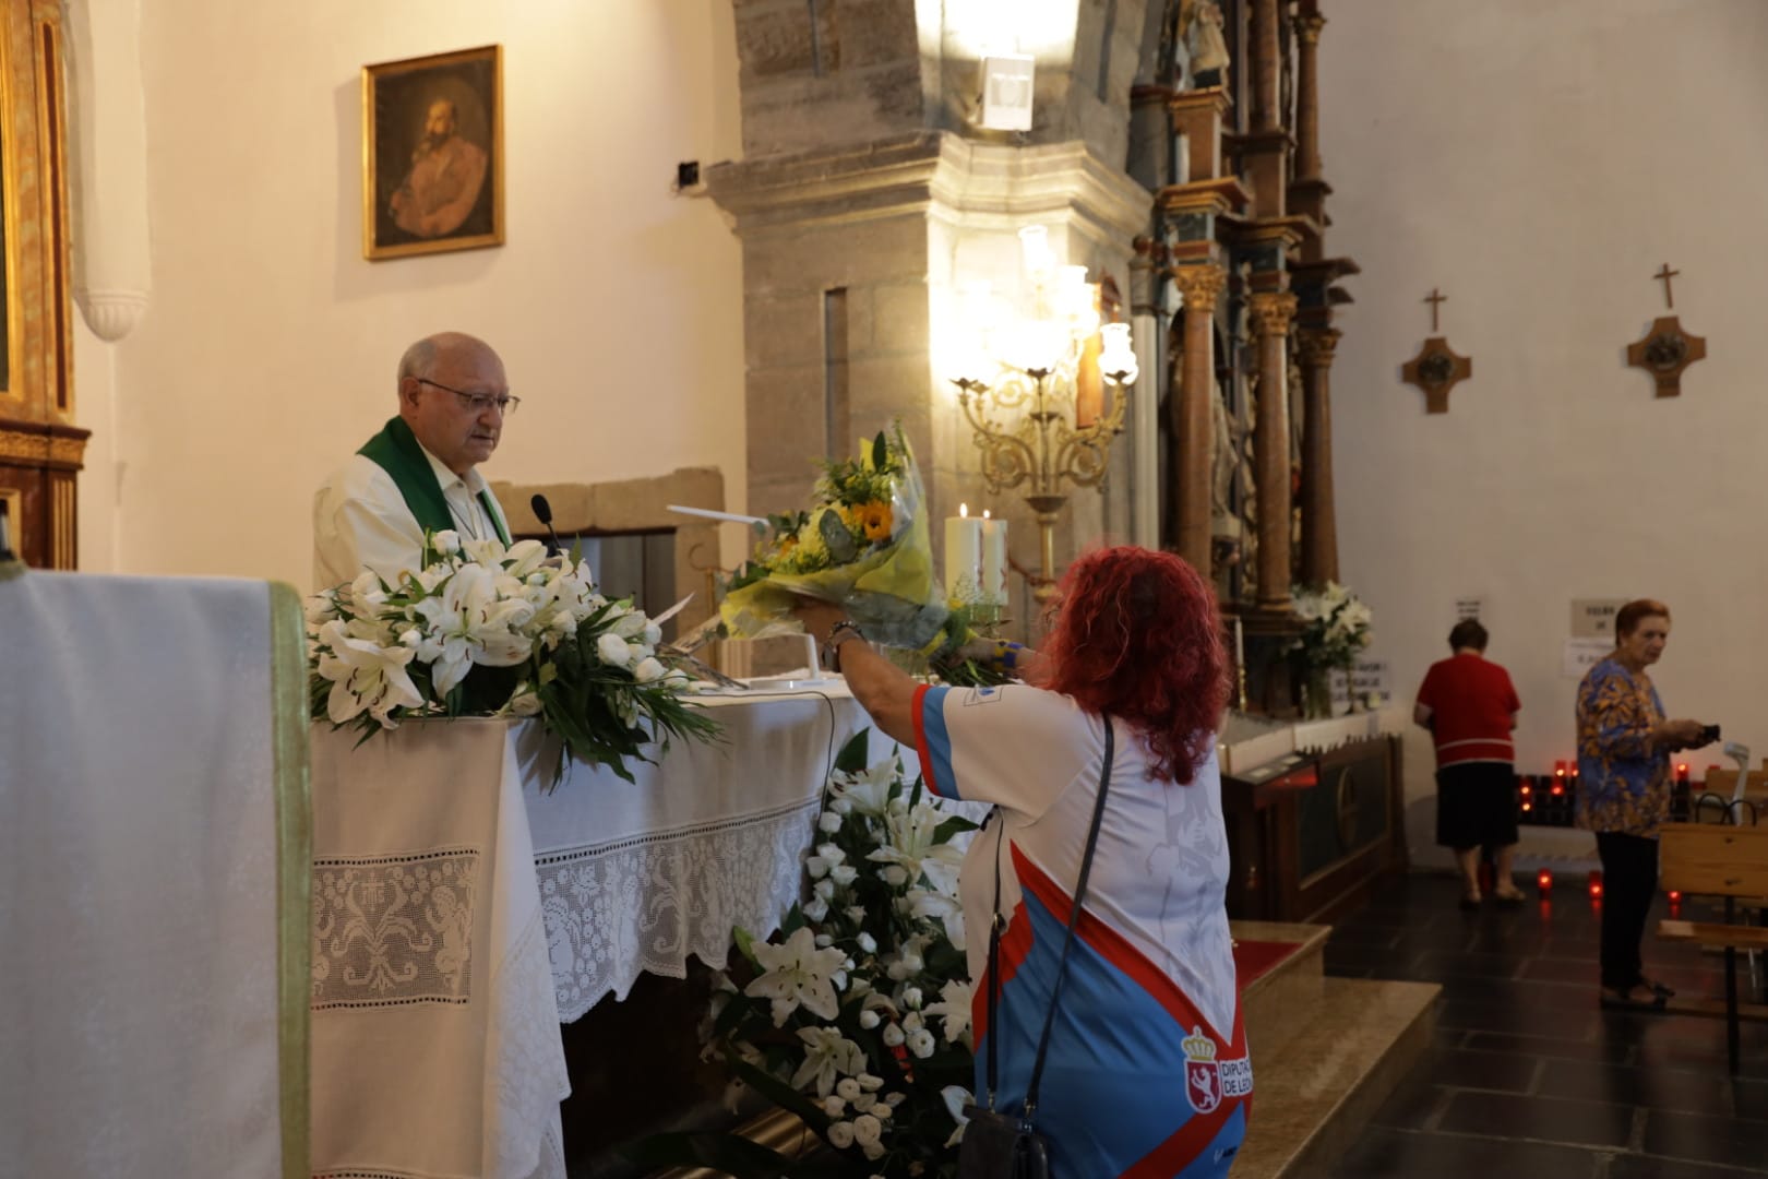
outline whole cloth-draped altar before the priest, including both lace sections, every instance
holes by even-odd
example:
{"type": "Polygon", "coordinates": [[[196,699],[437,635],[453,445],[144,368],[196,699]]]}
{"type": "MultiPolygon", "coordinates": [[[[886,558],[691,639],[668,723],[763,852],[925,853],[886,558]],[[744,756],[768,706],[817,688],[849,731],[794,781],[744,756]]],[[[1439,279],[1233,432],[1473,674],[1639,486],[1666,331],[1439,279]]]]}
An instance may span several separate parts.
{"type": "Polygon", "coordinates": [[[559,1025],[778,926],[868,721],[838,681],[704,704],[721,741],[635,781],[553,785],[532,721],[315,726],[315,1175],[564,1175],[559,1025]]]}

